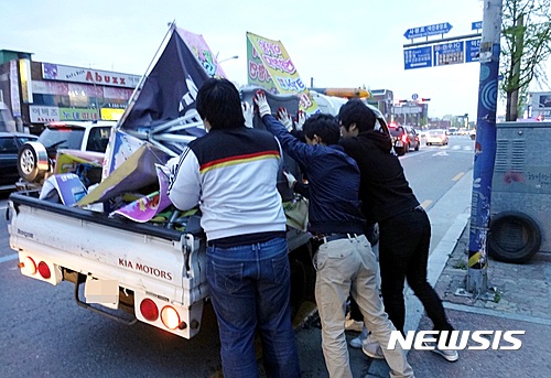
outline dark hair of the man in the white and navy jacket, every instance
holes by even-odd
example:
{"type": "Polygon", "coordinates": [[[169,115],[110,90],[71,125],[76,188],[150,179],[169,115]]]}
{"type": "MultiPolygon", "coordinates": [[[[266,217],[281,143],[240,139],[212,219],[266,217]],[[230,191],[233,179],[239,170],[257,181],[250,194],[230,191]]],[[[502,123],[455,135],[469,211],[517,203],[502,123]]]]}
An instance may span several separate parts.
{"type": "Polygon", "coordinates": [[[203,84],[197,93],[196,109],[213,129],[245,126],[239,91],[226,78],[209,78],[203,84]]]}

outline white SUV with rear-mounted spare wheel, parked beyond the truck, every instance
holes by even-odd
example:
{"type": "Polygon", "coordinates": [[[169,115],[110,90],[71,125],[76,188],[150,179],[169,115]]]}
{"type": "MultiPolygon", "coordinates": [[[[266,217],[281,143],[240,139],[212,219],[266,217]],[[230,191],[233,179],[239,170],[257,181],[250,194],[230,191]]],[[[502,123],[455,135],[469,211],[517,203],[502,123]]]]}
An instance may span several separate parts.
{"type": "Polygon", "coordinates": [[[115,121],[46,123],[36,141],[29,141],[19,149],[19,175],[25,183],[42,182],[53,172],[61,149],[105,153],[115,125],[115,121]]]}

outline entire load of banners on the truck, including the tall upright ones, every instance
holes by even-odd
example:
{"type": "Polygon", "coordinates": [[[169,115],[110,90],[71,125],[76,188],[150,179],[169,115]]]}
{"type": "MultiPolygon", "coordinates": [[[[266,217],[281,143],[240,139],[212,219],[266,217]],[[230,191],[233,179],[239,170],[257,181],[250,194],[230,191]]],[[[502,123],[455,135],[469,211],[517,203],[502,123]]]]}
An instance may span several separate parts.
{"type": "MultiPolygon", "coordinates": [[[[169,172],[165,164],[182,152],[184,139],[193,140],[205,133],[195,109],[197,88],[209,77],[226,75],[201,34],[179,29],[175,23],[170,28],[161,44],[164,46],[162,53],[155,56],[154,65],[138,85],[110,136],[105,159],[89,152],[60,152],[55,174],[44,183],[41,198],[182,230],[185,230],[186,217],[199,216],[198,208],[181,214],[171,204],[166,195],[169,172]],[[173,154],[131,136],[133,132],[145,132],[149,140],[162,141],[160,145],[173,154]]],[[[317,111],[281,42],[247,33],[247,51],[249,67],[257,67],[255,73],[269,73],[270,76],[255,76],[258,80],[249,77],[249,85],[262,87],[269,94],[269,101],[278,101],[271,104],[272,109],[284,106],[296,114],[302,106],[306,114],[317,111]],[[279,77],[281,80],[277,79],[279,77]],[[280,82],[287,86],[282,87],[280,82]]],[[[245,91],[248,98],[244,100],[252,104],[255,93],[252,88],[245,91]]],[[[260,127],[258,117],[256,123],[260,127]]],[[[307,202],[296,194],[285,193],[289,186],[282,172],[280,176],[279,183],[283,185],[278,188],[288,225],[304,231],[307,202]]]]}

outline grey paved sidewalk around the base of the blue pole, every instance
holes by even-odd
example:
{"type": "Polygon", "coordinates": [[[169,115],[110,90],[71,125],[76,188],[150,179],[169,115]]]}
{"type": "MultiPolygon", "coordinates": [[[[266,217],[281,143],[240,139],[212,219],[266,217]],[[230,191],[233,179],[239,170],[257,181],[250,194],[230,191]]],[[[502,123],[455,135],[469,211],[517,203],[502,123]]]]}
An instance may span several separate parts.
{"type": "MultiPolygon", "coordinates": [[[[490,290],[476,299],[465,290],[468,231],[466,222],[463,233],[449,249],[451,253],[435,283],[431,283],[444,301],[456,330],[526,331],[525,335],[517,336],[522,347],[519,350],[462,350],[456,363],[449,363],[429,350],[412,349],[408,359],[415,377],[551,377],[551,253],[536,253],[526,264],[490,259],[487,271],[490,290]]],[[[434,259],[431,255],[430,264],[434,259]]],[[[407,303],[408,312],[411,302],[407,303]]],[[[418,326],[409,330],[412,328],[429,331],[432,323],[421,313],[418,326]]],[[[468,345],[476,344],[469,342],[468,345]]],[[[385,361],[374,360],[366,377],[388,377],[388,374],[385,361]]]]}

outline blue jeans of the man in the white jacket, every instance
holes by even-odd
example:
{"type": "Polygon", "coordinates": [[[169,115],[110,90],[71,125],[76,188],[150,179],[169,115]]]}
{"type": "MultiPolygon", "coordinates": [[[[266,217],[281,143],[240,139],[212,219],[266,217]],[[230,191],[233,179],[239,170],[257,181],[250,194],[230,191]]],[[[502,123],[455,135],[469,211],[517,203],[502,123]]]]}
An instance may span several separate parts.
{"type": "Polygon", "coordinates": [[[206,277],[220,332],[225,378],[257,378],[255,332],[268,377],[300,377],[291,324],[291,276],[284,238],[208,247],[206,277]]]}

